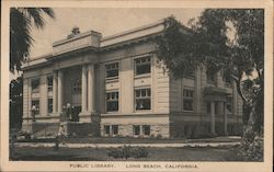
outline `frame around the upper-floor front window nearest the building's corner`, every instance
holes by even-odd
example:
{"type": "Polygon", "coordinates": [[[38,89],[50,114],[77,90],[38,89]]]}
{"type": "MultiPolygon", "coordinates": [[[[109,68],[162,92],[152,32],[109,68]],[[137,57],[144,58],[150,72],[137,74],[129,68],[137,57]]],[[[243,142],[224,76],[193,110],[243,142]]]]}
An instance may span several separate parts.
{"type": "Polygon", "coordinates": [[[152,66],[152,56],[147,55],[142,57],[137,57],[134,59],[134,76],[135,77],[141,77],[141,76],[150,76],[151,74],[151,66],[152,66]],[[147,59],[145,62],[141,61],[141,59],[147,59]],[[137,64],[137,60],[140,60],[140,62],[137,64]],[[149,65],[149,72],[146,73],[137,73],[137,68],[144,65],[149,65]]]}

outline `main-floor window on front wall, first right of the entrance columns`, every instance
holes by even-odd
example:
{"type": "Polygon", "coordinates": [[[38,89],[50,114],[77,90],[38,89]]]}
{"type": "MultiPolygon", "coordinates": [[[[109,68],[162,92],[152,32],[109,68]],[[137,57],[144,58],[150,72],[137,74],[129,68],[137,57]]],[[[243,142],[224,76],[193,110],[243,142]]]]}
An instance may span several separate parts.
{"type": "Polygon", "coordinates": [[[106,112],[118,111],[118,92],[107,92],[106,93],[106,112]]]}

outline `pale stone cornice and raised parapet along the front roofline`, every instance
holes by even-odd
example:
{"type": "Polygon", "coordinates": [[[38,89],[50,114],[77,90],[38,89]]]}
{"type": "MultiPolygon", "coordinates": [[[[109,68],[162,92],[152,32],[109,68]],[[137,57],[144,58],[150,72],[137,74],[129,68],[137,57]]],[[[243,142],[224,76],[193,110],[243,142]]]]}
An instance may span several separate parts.
{"type": "MultiPolygon", "coordinates": [[[[39,58],[26,61],[22,70],[50,64],[54,59],[61,59],[70,55],[82,51],[103,53],[109,49],[121,48],[123,46],[151,41],[164,30],[164,20],[133,28],[126,32],[114,34],[102,38],[102,34],[95,31],[79,33],[70,38],[53,43],[53,53],[39,58]],[[67,46],[67,47],[66,47],[67,46]]],[[[186,30],[186,28],[185,28],[186,30]]]]}

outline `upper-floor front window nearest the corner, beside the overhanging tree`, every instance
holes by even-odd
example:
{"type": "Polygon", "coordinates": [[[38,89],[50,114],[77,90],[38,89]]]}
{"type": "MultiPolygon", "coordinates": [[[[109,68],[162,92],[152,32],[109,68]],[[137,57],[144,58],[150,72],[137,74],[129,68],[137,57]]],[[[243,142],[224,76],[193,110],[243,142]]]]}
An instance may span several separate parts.
{"type": "Polygon", "coordinates": [[[150,56],[137,58],[134,60],[135,62],[135,76],[150,73],[150,56]]]}

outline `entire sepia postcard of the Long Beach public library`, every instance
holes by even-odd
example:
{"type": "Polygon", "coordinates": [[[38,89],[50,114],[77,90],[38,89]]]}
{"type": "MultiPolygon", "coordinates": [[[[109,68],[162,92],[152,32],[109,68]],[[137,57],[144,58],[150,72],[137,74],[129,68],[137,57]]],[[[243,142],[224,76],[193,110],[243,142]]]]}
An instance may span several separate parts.
{"type": "Polygon", "coordinates": [[[265,151],[273,116],[266,8],[4,10],[1,167],[203,171],[197,162],[264,165],[273,157],[265,151]]]}

